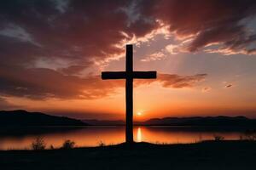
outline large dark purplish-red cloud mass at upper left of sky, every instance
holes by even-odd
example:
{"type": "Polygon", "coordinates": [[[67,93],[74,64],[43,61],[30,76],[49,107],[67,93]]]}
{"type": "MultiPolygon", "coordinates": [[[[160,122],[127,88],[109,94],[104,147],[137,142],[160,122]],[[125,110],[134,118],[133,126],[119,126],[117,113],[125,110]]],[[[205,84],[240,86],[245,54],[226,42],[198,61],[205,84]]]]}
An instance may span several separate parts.
{"type": "Polygon", "coordinates": [[[104,59],[123,51],[114,46],[125,37],[121,31],[144,36],[155,27],[141,15],[128,26],[131,16],[119,10],[129,8],[127,1],[70,1],[61,14],[55,5],[53,0],[0,3],[2,63],[27,64],[42,57],[104,59]],[[16,37],[6,36],[14,32],[16,37]]]}

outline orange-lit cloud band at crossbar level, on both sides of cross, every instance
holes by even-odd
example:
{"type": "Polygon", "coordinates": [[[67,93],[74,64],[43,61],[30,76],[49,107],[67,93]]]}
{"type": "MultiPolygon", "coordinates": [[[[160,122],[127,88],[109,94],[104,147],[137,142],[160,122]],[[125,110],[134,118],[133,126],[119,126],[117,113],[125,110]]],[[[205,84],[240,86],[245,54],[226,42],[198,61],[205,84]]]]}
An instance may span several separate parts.
{"type": "MultiPolygon", "coordinates": [[[[179,76],[159,74],[157,79],[139,80],[135,86],[158,82],[164,88],[192,88],[206,74],[179,76]]],[[[99,99],[124,88],[122,80],[102,81],[100,76],[76,77],[50,69],[0,67],[0,94],[31,99],[99,99]]]]}

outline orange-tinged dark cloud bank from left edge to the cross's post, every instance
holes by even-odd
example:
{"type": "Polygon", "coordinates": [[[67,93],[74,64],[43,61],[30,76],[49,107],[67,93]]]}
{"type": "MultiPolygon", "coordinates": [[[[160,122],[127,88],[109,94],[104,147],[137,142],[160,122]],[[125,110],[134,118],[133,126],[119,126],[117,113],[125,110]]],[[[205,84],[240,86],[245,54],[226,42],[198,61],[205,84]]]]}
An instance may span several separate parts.
{"type": "Polygon", "coordinates": [[[0,71],[0,93],[32,99],[94,99],[113,92],[122,82],[103,82],[100,77],[65,76],[50,69],[4,68],[0,71]]]}

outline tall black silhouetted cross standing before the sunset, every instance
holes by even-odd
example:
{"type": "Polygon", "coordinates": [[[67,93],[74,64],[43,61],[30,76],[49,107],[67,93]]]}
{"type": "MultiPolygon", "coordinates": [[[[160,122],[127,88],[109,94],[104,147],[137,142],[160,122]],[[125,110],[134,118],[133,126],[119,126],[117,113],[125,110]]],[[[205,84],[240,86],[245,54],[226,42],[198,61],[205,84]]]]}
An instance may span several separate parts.
{"type": "Polygon", "coordinates": [[[133,143],[133,79],[156,78],[156,71],[133,71],[132,45],[126,45],[126,71],[102,72],[102,79],[125,79],[125,142],[133,143]]]}

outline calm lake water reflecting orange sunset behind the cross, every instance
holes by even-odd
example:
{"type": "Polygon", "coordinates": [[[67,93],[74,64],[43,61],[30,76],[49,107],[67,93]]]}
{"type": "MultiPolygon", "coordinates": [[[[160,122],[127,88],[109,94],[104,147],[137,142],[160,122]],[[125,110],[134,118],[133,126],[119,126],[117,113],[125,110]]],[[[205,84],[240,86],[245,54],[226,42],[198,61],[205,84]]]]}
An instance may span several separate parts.
{"type": "MultiPolygon", "coordinates": [[[[239,139],[242,132],[195,129],[191,127],[134,127],[137,142],[150,143],[195,143],[213,139],[214,135],[224,139],[239,139]]],[[[47,147],[61,147],[66,139],[75,141],[76,146],[96,146],[100,143],[119,144],[125,141],[125,127],[37,127],[26,130],[0,132],[0,150],[31,149],[31,143],[43,137],[47,147]]]]}

